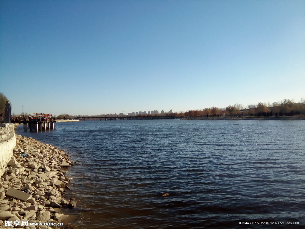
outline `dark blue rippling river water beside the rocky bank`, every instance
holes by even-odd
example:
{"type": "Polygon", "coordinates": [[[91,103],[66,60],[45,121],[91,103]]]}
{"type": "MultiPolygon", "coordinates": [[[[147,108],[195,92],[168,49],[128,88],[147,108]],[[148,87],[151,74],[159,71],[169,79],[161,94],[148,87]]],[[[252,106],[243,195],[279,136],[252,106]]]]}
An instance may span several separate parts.
{"type": "Polygon", "coordinates": [[[302,120],[62,122],[38,133],[22,127],[16,133],[80,163],[68,169],[75,179],[66,194],[77,208],[63,210],[76,228],[294,228],[239,222],[305,219],[302,120]]]}

